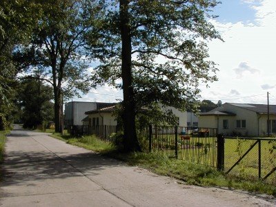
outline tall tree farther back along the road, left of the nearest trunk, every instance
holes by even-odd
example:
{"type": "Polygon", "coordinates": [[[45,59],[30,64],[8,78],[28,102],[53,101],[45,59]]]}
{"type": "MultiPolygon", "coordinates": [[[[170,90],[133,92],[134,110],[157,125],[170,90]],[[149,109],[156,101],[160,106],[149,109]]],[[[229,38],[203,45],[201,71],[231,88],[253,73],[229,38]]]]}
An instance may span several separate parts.
{"type": "MultiPolygon", "coordinates": [[[[39,69],[52,85],[55,100],[55,130],[61,131],[62,97],[79,95],[90,88],[86,59],[87,32],[94,33],[101,15],[99,1],[41,1],[43,15],[32,42],[24,48],[33,54],[31,72],[39,69]]],[[[97,38],[97,35],[93,36],[97,38]]],[[[94,39],[95,41],[95,39],[94,39]]]]}

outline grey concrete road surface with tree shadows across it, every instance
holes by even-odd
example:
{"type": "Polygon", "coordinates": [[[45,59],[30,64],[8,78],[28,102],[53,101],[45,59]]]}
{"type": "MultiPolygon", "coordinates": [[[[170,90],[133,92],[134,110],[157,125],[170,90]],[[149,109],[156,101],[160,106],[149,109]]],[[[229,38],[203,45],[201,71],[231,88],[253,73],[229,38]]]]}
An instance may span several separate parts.
{"type": "Polygon", "coordinates": [[[0,206],[276,206],[246,193],[179,184],[19,128],[8,136],[2,167],[0,206]]]}

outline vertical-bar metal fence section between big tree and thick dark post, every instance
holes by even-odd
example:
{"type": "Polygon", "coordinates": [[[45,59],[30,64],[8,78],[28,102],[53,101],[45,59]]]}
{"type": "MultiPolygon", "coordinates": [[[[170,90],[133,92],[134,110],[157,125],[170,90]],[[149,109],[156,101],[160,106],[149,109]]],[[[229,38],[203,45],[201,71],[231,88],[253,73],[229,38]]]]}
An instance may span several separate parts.
{"type": "Polygon", "coordinates": [[[217,166],[217,129],[150,126],[149,151],[164,150],[178,159],[217,166]]]}

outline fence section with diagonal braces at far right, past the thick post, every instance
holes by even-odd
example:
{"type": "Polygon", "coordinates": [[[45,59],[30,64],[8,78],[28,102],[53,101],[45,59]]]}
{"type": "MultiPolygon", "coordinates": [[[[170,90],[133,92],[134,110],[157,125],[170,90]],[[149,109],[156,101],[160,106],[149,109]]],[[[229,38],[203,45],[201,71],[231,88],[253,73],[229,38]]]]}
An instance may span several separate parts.
{"type": "Polygon", "coordinates": [[[262,179],[276,184],[276,139],[221,137],[226,174],[262,179]]]}

